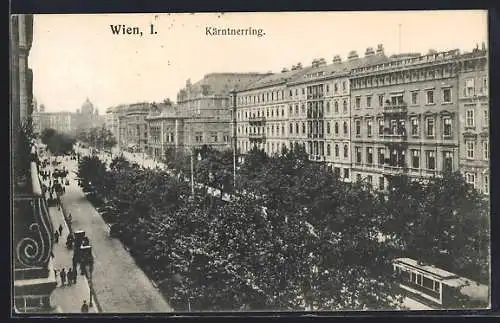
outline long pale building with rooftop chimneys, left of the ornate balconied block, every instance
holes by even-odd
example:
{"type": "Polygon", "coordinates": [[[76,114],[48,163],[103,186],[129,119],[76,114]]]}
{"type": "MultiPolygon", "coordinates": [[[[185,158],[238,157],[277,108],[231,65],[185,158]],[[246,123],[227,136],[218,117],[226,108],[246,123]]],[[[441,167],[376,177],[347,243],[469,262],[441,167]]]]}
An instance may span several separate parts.
{"type": "Polygon", "coordinates": [[[344,62],[338,55],[332,64],[315,59],[306,68],[298,64],[250,84],[237,93],[238,147],[245,153],[255,145],[273,154],[302,145],[311,160],[327,163],[349,180],[350,71],[385,60],[379,45],[363,58],[351,51],[344,62]]]}

